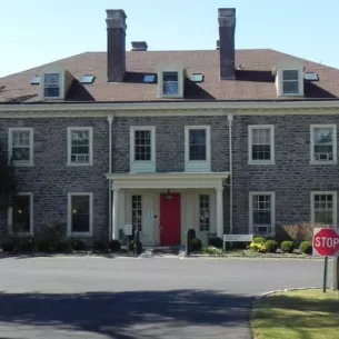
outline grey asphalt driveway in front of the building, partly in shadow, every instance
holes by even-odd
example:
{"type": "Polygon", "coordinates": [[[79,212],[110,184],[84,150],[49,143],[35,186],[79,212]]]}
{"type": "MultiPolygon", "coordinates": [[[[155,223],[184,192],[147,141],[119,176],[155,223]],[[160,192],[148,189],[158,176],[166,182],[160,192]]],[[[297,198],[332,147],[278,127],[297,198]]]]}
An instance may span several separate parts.
{"type": "Polygon", "coordinates": [[[0,339],[248,339],[256,296],[321,273],[318,260],[1,259],[0,339]]]}

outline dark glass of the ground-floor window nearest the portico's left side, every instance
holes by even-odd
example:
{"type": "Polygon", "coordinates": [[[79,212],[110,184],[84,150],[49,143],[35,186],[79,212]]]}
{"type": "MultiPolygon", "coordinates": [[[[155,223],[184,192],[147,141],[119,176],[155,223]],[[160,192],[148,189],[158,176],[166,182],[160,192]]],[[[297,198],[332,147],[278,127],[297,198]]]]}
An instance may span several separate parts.
{"type": "Polygon", "coordinates": [[[72,232],[90,231],[90,197],[72,196],[72,232]]]}

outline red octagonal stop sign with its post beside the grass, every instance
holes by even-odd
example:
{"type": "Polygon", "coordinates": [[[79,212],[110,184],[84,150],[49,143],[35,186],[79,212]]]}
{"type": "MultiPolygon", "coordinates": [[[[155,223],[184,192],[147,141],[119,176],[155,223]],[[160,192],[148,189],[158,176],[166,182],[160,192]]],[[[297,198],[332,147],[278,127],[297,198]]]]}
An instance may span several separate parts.
{"type": "Polygon", "coordinates": [[[325,257],[323,263],[323,292],[327,288],[328,257],[333,257],[333,289],[338,290],[338,255],[339,255],[339,229],[315,228],[313,230],[313,256],[325,257]],[[337,258],[336,258],[337,257],[337,258]]]}

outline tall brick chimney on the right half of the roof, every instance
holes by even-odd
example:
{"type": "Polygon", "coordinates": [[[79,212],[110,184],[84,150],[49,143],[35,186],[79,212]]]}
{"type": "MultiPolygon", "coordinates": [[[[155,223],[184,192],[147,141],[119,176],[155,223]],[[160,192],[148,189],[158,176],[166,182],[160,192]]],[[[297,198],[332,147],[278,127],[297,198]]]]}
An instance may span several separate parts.
{"type": "Polygon", "coordinates": [[[220,79],[236,79],[236,9],[219,8],[220,79]]]}

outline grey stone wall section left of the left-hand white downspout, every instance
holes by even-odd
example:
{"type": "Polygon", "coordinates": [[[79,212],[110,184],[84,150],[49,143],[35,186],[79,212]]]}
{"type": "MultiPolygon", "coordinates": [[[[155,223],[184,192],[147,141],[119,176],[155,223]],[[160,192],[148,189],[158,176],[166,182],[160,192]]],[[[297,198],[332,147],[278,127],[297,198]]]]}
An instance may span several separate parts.
{"type": "MultiPolygon", "coordinates": [[[[107,119],[1,119],[0,140],[8,144],[8,129],[33,128],[33,167],[17,167],[19,191],[33,193],[33,232],[43,233],[50,222],[67,228],[68,193],[93,193],[93,238],[108,238],[108,122],[107,119]],[[93,127],[93,166],[67,166],[67,128],[93,127]]],[[[0,237],[7,233],[7,216],[0,218],[0,237]]]]}

